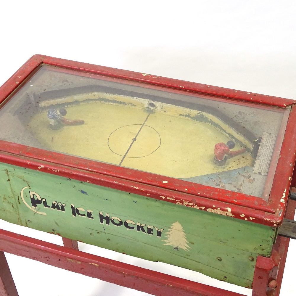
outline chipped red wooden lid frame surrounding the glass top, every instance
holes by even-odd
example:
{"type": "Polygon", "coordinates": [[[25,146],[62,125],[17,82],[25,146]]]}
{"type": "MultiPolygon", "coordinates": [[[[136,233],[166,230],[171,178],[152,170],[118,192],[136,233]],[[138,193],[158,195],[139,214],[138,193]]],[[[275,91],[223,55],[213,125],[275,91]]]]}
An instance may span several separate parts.
{"type": "MultiPolygon", "coordinates": [[[[159,89],[161,87],[163,89],[165,87],[167,91],[191,96],[210,97],[210,99],[241,105],[257,103],[256,107],[263,109],[268,106],[285,108],[296,103],[296,101],[289,99],[173,80],[144,73],[95,66],[41,55],[35,55],[30,58],[25,65],[1,86],[0,103],[5,103],[5,99],[17,89],[20,83],[26,81],[41,64],[61,67],[56,68],[57,71],[69,72],[70,70],[77,70],[77,75],[95,76],[98,79],[105,80],[116,79],[118,81],[120,79],[121,83],[133,85],[139,85],[140,82],[141,86],[147,88],[159,89]]],[[[79,181],[87,180],[93,184],[110,186],[111,188],[144,196],[149,194],[151,198],[163,200],[161,196],[165,196],[165,201],[167,202],[181,203],[187,207],[194,207],[199,210],[206,210],[209,207],[213,208],[213,205],[222,211],[227,211],[231,207],[231,213],[234,215],[234,218],[245,220],[246,217],[251,217],[252,222],[278,227],[281,225],[284,217],[296,157],[294,154],[296,152],[295,120],[296,112],[290,112],[285,138],[280,152],[280,155],[285,157],[280,157],[278,160],[268,202],[259,197],[1,140],[0,161],[65,176],[67,178],[74,178],[79,181]],[[44,167],[42,168],[42,166],[44,167]],[[164,178],[168,183],[163,183],[164,178]],[[281,202],[284,195],[286,198],[284,198],[284,202],[281,202]]]]}

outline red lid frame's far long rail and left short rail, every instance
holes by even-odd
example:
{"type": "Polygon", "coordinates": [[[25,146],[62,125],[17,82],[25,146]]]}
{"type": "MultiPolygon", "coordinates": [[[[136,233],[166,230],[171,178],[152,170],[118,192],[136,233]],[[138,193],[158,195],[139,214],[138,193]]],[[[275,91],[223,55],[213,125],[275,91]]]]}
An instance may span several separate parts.
{"type": "MultiPolygon", "coordinates": [[[[67,69],[86,71],[89,73],[95,73],[99,75],[110,76],[114,78],[121,78],[126,80],[134,80],[158,86],[165,86],[168,88],[180,89],[182,91],[192,91],[201,94],[210,94],[215,96],[222,96],[230,99],[243,100],[247,102],[268,104],[278,107],[287,107],[296,103],[296,101],[290,99],[279,98],[275,96],[267,96],[263,94],[248,93],[246,91],[239,91],[234,89],[227,89],[218,86],[211,86],[202,83],[195,83],[183,80],[177,80],[172,78],[166,78],[156,75],[149,75],[144,73],[137,73],[128,70],[115,69],[104,66],[97,66],[88,63],[75,62],[66,59],[59,59],[49,57],[41,54],[36,54],[31,57],[15,74],[11,76],[0,88],[0,92],[3,92],[6,98],[11,91],[13,91],[17,84],[22,82],[28,75],[35,70],[42,63],[64,67],[67,69]],[[143,76],[143,74],[145,76],[143,76]]],[[[0,101],[1,102],[1,101],[0,101]]]]}

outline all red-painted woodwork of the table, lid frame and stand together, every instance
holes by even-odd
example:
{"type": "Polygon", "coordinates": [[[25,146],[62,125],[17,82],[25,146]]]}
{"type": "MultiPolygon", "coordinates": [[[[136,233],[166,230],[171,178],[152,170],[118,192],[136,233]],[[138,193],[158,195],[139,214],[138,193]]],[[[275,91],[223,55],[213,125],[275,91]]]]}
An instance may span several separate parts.
{"type": "MultiPolygon", "coordinates": [[[[186,94],[210,96],[211,99],[220,101],[229,102],[229,99],[232,99],[237,100],[236,102],[239,104],[258,103],[262,104],[260,105],[262,108],[264,108],[263,104],[285,108],[296,103],[288,99],[172,80],[41,55],[35,55],[29,59],[17,73],[4,83],[0,88],[0,103],[4,102],[16,90],[17,86],[25,81],[42,63],[59,66],[66,70],[83,71],[78,72],[79,75],[90,75],[89,73],[91,73],[92,75],[102,75],[99,78],[120,78],[126,83],[133,83],[132,80],[135,81],[134,83],[144,83],[144,86],[149,88],[161,86],[168,88],[169,91],[179,92],[181,90],[182,92],[186,91],[186,94]]],[[[40,167],[42,167],[42,171],[47,173],[88,181],[97,185],[110,186],[114,189],[144,196],[149,194],[151,198],[160,199],[160,195],[162,195],[170,197],[170,199],[166,199],[168,202],[181,202],[183,205],[197,209],[200,207],[212,208],[214,204],[221,210],[227,210],[226,208],[231,204],[231,213],[235,218],[242,219],[241,215],[244,214],[255,218],[252,220],[253,222],[276,227],[281,224],[284,215],[286,218],[293,219],[295,213],[296,202],[289,200],[287,206],[287,195],[295,163],[295,155],[293,155],[296,152],[295,120],[296,112],[290,112],[285,139],[280,152],[285,157],[279,158],[268,202],[257,197],[179,181],[174,178],[165,177],[168,183],[163,184],[163,176],[5,141],[0,141],[0,161],[34,170],[41,170],[40,167]],[[184,188],[187,189],[186,192],[184,188]],[[283,203],[280,202],[280,199],[284,197],[283,193],[285,192],[286,198],[283,203]]],[[[0,252],[1,295],[17,295],[9,267],[3,255],[3,252],[10,252],[154,295],[242,296],[238,293],[83,253],[77,250],[75,242],[68,239],[63,239],[63,242],[65,247],[0,230],[0,250],[2,251],[2,253],[0,252]]],[[[271,258],[258,257],[253,281],[253,296],[279,295],[288,244],[289,239],[278,237],[271,258]],[[277,288],[274,288],[276,285],[277,288]]]]}

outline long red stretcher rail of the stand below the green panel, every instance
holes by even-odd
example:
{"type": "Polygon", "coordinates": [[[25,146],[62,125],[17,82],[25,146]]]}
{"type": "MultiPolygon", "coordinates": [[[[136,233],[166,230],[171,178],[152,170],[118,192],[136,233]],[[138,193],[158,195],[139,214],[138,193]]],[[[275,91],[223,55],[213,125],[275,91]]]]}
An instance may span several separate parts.
{"type": "Polygon", "coordinates": [[[0,250],[152,295],[243,296],[5,230],[0,230],[0,250]]]}

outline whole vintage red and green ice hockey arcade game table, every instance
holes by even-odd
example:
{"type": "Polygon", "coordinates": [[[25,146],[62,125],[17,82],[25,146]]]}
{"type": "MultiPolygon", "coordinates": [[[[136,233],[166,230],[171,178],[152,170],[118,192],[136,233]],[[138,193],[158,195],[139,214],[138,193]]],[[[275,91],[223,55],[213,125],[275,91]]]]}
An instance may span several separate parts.
{"type": "Polygon", "coordinates": [[[35,55],[0,102],[0,218],[65,242],[3,230],[1,251],[154,295],[226,295],[81,241],[279,295],[296,101],[35,55]]]}

